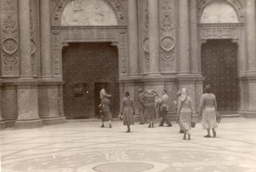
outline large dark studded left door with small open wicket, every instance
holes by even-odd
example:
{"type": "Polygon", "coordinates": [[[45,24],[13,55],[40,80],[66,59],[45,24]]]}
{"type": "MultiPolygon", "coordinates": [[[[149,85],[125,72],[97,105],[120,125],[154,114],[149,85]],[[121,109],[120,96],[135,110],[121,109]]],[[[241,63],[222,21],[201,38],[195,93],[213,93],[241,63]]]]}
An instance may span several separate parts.
{"type": "Polygon", "coordinates": [[[62,50],[63,101],[67,118],[96,118],[102,85],[119,112],[118,49],[111,43],[69,43],[62,50]]]}

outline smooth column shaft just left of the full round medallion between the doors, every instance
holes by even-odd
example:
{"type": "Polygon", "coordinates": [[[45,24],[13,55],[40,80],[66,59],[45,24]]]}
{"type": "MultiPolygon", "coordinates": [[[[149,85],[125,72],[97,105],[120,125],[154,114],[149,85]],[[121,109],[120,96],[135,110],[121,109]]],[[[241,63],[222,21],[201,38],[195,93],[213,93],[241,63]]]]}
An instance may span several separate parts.
{"type": "Polygon", "coordinates": [[[148,0],[149,73],[160,72],[158,0],[148,0]]]}

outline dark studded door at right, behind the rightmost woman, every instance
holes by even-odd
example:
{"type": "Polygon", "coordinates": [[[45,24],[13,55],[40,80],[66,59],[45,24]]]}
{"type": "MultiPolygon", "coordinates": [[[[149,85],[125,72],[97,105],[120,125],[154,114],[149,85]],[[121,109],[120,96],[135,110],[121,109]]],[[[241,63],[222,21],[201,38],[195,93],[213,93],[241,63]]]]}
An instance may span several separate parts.
{"type": "Polygon", "coordinates": [[[210,84],[216,95],[218,111],[238,110],[237,44],[230,39],[207,40],[201,46],[204,86],[210,84]]]}

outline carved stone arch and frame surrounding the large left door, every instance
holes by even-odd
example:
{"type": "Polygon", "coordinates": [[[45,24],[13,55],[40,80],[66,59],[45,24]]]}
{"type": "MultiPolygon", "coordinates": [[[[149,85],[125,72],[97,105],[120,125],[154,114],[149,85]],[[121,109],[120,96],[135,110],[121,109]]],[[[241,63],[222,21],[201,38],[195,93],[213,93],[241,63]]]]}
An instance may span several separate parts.
{"type": "MultiPolygon", "coordinates": [[[[126,1],[108,0],[113,8],[116,26],[61,26],[61,14],[70,0],[51,1],[52,61],[55,79],[63,81],[62,49],[73,43],[112,43],[118,50],[118,77],[127,75],[128,32],[126,1]]],[[[63,99],[63,97],[62,97],[63,99]]],[[[64,108],[65,109],[65,108],[64,108]]]]}

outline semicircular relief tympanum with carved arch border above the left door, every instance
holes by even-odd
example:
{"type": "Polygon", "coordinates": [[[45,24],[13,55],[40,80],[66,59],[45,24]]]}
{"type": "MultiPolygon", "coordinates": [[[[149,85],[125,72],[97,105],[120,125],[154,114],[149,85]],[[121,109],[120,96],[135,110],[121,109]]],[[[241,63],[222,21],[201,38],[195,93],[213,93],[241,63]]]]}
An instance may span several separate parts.
{"type": "Polygon", "coordinates": [[[52,0],[52,26],[126,26],[122,0],[52,0]]]}

